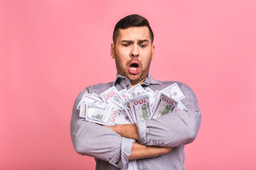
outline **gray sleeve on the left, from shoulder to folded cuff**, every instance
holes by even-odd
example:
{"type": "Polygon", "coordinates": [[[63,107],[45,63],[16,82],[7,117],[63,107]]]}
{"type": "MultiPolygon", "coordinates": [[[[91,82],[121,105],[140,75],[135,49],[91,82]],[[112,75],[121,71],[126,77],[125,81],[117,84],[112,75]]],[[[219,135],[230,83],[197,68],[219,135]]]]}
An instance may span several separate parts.
{"type": "Polygon", "coordinates": [[[76,98],[70,122],[70,135],[75,151],[78,154],[102,159],[123,169],[127,166],[135,140],[122,137],[102,125],[80,118],[76,107],[85,92],[87,89],[84,89],[76,98]]]}

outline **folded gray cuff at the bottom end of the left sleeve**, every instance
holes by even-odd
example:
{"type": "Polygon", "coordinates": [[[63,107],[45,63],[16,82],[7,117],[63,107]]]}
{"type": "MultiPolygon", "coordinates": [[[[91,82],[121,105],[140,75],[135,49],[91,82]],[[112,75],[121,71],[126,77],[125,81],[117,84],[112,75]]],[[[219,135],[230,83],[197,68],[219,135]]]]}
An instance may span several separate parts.
{"type": "Polygon", "coordinates": [[[129,156],[132,151],[132,144],[135,142],[133,139],[129,139],[127,137],[122,137],[121,143],[121,153],[117,152],[114,154],[114,157],[110,160],[110,164],[117,166],[119,169],[124,169],[129,161],[129,156]]]}

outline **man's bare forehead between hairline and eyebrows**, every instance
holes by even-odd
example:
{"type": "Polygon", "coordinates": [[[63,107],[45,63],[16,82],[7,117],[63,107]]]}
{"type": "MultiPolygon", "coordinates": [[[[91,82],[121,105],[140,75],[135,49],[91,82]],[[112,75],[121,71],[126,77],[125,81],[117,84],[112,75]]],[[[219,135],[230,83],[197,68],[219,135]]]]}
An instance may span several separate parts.
{"type": "Polygon", "coordinates": [[[119,36],[117,37],[117,41],[119,40],[150,40],[149,28],[146,26],[142,27],[130,27],[126,29],[119,29],[119,36]]]}

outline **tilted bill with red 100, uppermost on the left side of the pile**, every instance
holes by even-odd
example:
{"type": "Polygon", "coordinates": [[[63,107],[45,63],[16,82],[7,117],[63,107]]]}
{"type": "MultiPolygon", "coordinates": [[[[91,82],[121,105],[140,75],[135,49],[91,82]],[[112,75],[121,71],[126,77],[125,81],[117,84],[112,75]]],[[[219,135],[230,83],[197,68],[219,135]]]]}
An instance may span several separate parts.
{"type": "Polygon", "coordinates": [[[120,106],[122,106],[122,98],[119,96],[119,93],[115,86],[112,86],[110,89],[107,89],[102,94],[100,94],[105,103],[110,104],[112,101],[116,101],[120,106]]]}

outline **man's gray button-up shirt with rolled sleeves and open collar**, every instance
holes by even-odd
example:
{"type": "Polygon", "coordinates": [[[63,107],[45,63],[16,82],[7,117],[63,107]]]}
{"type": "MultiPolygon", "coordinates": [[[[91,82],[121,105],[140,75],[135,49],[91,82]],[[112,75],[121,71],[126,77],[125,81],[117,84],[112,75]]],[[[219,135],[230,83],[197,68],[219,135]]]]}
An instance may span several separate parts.
{"type": "MultiPolygon", "coordinates": [[[[174,149],[158,157],[137,159],[137,169],[139,170],[184,169],[184,145],[195,140],[201,124],[201,112],[195,94],[186,84],[178,81],[157,81],[150,75],[141,85],[144,89],[149,87],[153,91],[160,91],[174,83],[178,84],[186,97],[181,102],[187,110],[135,123],[139,131],[138,142],[149,146],[174,147],[174,149]]],[[[121,77],[117,74],[114,82],[96,84],[83,89],[75,99],[73,106],[70,123],[71,138],[76,152],[95,157],[96,169],[127,169],[128,157],[135,141],[122,137],[116,132],[102,127],[102,125],[80,118],[79,110],[76,109],[85,92],[101,94],[111,86],[115,86],[119,91],[132,87],[127,77],[121,77]]]]}

